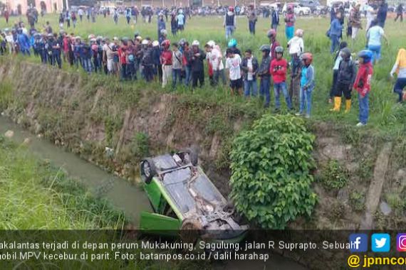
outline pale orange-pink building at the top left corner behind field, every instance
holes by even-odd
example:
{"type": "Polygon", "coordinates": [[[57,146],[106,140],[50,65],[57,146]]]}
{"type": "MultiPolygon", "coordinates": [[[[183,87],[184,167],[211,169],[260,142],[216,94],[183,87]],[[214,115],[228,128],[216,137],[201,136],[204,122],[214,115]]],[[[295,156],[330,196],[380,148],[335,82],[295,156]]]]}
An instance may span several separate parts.
{"type": "Polygon", "coordinates": [[[5,0],[7,8],[16,13],[25,14],[30,7],[48,13],[69,8],[69,0],[5,0]]]}

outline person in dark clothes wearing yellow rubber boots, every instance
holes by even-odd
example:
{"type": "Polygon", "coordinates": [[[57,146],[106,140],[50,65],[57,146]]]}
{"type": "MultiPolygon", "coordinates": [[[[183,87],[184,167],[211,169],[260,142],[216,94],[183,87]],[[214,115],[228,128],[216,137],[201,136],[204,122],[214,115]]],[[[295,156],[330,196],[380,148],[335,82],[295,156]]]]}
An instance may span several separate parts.
{"type": "Polygon", "coordinates": [[[345,112],[350,112],[351,109],[351,90],[355,77],[357,76],[357,67],[351,60],[351,51],[349,48],[340,50],[340,56],[343,58],[338,67],[337,85],[334,89],[334,108],[330,109],[333,112],[340,112],[341,97],[345,97],[345,112]]]}

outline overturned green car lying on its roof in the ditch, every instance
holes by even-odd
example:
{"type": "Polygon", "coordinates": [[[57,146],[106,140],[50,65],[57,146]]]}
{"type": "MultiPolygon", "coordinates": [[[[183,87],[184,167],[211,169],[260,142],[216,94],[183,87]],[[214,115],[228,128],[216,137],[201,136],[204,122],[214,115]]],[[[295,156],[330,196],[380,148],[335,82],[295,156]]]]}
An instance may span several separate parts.
{"type": "Polygon", "coordinates": [[[198,230],[209,239],[240,241],[248,225],[239,225],[234,206],[197,163],[193,149],[141,161],[141,178],[155,212],[141,213],[140,229],[161,234],[198,230]]]}

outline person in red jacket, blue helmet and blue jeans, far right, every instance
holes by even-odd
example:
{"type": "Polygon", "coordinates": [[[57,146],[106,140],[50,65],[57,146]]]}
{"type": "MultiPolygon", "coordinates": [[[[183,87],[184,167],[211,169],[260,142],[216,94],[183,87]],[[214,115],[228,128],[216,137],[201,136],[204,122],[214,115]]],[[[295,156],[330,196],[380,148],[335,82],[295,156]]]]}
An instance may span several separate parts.
{"type": "Polygon", "coordinates": [[[373,53],[370,50],[361,50],[358,53],[360,68],[354,82],[354,89],[358,92],[358,103],[360,104],[360,122],[357,126],[365,126],[369,117],[369,92],[373,75],[371,59],[373,53]]]}

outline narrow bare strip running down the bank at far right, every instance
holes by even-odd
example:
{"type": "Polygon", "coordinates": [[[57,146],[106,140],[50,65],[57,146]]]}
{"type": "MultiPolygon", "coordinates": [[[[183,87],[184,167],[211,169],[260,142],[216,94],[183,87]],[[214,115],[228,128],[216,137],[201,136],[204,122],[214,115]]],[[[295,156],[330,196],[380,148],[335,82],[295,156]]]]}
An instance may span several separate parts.
{"type": "Polygon", "coordinates": [[[380,195],[382,193],[383,182],[389,163],[390,153],[392,152],[392,143],[386,143],[375,161],[375,170],[373,180],[370,183],[367,199],[365,202],[365,217],[361,222],[360,229],[373,229],[373,215],[378,208],[380,195]]]}

